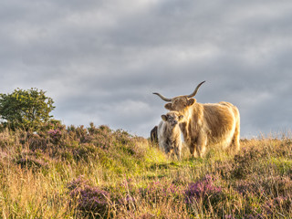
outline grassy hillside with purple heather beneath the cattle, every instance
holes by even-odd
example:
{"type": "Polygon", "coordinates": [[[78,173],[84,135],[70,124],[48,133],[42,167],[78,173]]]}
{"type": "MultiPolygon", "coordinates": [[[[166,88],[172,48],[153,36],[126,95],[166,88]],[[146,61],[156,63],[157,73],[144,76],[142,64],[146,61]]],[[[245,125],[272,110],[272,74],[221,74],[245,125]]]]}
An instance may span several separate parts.
{"type": "Polygon", "coordinates": [[[167,158],[107,126],[0,132],[0,218],[290,218],[292,141],[167,158]]]}

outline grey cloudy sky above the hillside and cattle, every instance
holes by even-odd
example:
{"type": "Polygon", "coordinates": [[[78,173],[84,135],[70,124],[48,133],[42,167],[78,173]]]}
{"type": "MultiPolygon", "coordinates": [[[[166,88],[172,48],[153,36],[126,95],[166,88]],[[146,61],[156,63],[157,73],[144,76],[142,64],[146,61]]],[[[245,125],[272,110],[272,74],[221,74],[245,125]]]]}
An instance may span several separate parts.
{"type": "Polygon", "coordinates": [[[291,130],[292,1],[2,0],[0,93],[37,88],[66,125],[149,136],[152,92],[230,101],[243,137],[291,130]]]}

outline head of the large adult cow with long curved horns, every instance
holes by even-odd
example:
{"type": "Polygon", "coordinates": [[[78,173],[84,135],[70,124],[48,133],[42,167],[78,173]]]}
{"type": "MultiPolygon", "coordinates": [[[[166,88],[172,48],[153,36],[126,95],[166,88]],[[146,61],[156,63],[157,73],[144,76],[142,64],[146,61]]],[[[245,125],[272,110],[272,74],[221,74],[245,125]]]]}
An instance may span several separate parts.
{"type": "Polygon", "coordinates": [[[186,110],[188,107],[191,107],[193,103],[195,103],[195,99],[193,97],[196,95],[198,92],[198,89],[200,86],[204,83],[205,81],[201,82],[194,90],[193,93],[190,95],[184,95],[184,96],[178,96],[172,99],[165,98],[162,96],[160,93],[153,93],[159,96],[162,100],[170,102],[165,104],[165,109],[167,110],[175,110],[175,111],[181,111],[183,112],[186,110]]]}

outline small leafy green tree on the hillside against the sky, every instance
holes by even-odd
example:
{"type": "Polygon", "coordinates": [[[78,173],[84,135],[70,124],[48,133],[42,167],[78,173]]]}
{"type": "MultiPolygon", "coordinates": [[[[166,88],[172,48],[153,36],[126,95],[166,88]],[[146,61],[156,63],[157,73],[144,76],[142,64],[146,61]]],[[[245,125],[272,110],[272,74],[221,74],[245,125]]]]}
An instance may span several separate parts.
{"type": "Polygon", "coordinates": [[[15,89],[12,94],[0,94],[0,116],[11,129],[38,130],[53,116],[53,99],[38,89],[15,89]]]}

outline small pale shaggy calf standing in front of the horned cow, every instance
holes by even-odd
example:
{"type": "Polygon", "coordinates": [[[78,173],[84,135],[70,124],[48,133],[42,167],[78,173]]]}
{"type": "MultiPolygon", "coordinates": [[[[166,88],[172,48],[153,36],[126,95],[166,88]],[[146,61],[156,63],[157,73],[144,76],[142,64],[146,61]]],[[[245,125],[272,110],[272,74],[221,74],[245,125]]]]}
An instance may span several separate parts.
{"type": "Polygon", "coordinates": [[[158,126],[158,143],[162,151],[166,154],[175,154],[178,159],[181,159],[182,139],[179,122],[183,120],[183,115],[176,111],[168,112],[162,115],[162,121],[158,126]]]}

